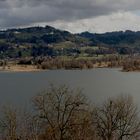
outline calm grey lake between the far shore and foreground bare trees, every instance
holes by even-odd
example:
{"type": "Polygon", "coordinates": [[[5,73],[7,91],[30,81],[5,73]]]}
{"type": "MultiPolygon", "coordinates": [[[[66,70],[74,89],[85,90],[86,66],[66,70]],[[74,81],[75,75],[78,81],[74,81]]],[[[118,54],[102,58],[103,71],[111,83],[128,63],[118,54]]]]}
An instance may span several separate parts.
{"type": "Polygon", "coordinates": [[[0,103],[28,106],[31,98],[47,89],[49,83],[82,88],[93,102],[130,94],[140,105],[140,72],[120,69],[48,70],[43,72],[0,72],[0,103]]]}

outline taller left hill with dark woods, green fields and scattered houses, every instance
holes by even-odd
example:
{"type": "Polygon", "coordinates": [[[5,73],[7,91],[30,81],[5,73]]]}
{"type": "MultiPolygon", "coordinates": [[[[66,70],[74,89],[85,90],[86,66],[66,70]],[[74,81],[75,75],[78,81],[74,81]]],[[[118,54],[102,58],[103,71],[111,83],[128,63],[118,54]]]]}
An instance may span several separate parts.
{"type": "Polygon", "coordinates": [[[89,44],[88,40],[51,26],[8,29],[0,31],[0,58],[63,55],[61,48],[73,52],[73,48],[89,44]]]}

